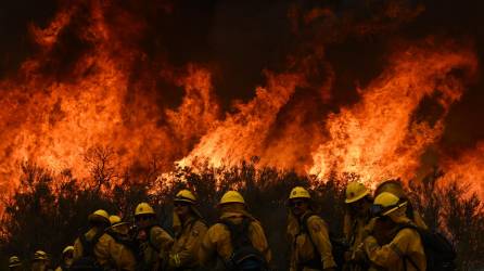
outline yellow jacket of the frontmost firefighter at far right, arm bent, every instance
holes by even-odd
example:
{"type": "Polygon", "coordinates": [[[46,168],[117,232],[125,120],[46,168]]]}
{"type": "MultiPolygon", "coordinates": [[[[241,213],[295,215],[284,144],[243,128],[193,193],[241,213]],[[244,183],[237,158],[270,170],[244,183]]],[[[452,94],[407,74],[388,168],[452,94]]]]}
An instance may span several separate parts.
{"type": "MultiPolygon", "coordinates": [[[[403,222],[411,222],[408,218],[405,218],[405,220],[403,222]]],[[[370,235],[365,240],[365,251],[372,263],[389,271],[423,271],[426,269],[423,245],[419,233],[415,229],[405,228],[399,230],[392,242],[383,246],[380,246],[377,238],[370,235]]]]}

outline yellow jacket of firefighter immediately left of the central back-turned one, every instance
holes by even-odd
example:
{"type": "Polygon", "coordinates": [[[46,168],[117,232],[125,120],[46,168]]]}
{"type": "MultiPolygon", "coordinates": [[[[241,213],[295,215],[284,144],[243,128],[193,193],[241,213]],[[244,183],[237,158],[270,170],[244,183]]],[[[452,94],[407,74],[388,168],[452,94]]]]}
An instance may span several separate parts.
{"type": "Polygon", "coordinates": [[[175,243],[169,253],[170,268],[190,269],[200,266],[199,248],[207,231],[206,224],[199,218],[190,217],[176,232],[175,243]]]}

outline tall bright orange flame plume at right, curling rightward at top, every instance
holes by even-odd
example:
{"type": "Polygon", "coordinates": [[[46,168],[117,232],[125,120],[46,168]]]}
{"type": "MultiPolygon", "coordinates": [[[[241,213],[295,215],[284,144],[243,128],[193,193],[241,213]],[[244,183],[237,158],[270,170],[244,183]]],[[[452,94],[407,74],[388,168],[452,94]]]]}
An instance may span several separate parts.
{"type": "Polygon", "coordinates": [[[313,153],[309,172],[320,179],[334,172],[377,182],[412,178],[422,153],[441,137],[449,106],[464,90],[451,76],[455,68],[475,73],[475,55],[435,46],[397,55],[377,80],[359,90],[359,103],[329,116],[329,139],[313,153]],[[433,125],[413,118],[425,96],[436,96],[444,109],[433,125]]]}

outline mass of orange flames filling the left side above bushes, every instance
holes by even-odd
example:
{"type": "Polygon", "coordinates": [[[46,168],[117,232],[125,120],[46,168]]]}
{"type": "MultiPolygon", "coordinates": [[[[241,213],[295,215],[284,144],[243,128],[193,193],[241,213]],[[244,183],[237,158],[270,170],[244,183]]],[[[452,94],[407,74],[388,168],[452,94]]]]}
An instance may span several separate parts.
{"type": "MultiPolygon", "coordinates": [[[[0,81],[2,189],[14,188],[18,162],[25,159],[55,171],[72,168],[74,176],[87,177],[85,156],[98,145],[113,147],[118,167],[148,163],[151,155],[163,152],[158,163],[169,168],[217,117],[211,75],[196,65],[170,78],[186,92],[177,109],[153,103],[156,96],[149,92],[150,85],[130,80],[141,53],[122,46],[116,29],[105,23],[103,7],[95,2],[89,9],[92,21],[80,29],[92,47],[75,62],[67,80],[44,68],[52,61],[52,48],[62,47],[56,42],[64,27],[80,12],[72,8],[46,29],[31,28],[41,52],[23,64],[18,78],[0,81]]],[[[130,27],[137,31],[142,25],[130,27]]]]}

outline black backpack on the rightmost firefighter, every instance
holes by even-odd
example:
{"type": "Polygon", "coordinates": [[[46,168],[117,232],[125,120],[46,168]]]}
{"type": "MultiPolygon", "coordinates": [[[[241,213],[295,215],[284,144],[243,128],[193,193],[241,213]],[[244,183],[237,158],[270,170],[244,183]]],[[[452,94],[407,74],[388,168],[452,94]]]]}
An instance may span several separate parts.
{"type": "MultiPolygon", "coordinates": [[[[400,225],[398,232],[403,229],[413,229],[416,230],[421,238],[423,249],[425,251],[426,259],[426,270],[428,271],[455,271],[457,270],[455,260],[457,257],[456,249],[453,244],[440,232],[424,230],[418,228],[415,224],[403,224],[400,225]]],[[[408,256],[404,255],[410,264],[416,269],[417,264],[408,256]]],[[[405,270],[406,261],[405,263],[405,270]]],[[[423,271],[423,270],[422,270],[423,271]]]]}

